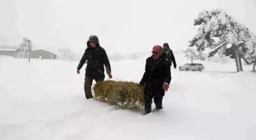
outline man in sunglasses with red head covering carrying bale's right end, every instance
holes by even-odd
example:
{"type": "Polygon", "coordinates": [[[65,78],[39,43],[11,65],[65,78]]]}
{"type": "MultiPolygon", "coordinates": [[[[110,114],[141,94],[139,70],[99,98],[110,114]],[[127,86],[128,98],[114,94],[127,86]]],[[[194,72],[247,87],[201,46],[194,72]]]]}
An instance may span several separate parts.
{"type": "Polygon", "coordinates": [[[163,53],[161,46],[155,45],[152,56],[146,59],[145,73],[139,82],[139,85],[144,86],[146,114],[152,111],[153,98],[156,109],[162,109],[162,99],[170,82],[171,70],[166,60],[166,54],[163,53]]]}

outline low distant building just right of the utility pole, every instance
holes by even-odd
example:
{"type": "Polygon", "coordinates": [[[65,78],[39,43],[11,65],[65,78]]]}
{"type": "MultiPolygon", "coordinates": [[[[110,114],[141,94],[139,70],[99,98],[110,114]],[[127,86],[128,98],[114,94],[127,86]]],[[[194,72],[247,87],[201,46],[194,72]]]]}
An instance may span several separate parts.
{"type": "Polygon", "coordinates": [[[57,55],[50,51],[45,51],[43,49],[30,51],[30,58],[37,59],[56,59],[57,55]]]}

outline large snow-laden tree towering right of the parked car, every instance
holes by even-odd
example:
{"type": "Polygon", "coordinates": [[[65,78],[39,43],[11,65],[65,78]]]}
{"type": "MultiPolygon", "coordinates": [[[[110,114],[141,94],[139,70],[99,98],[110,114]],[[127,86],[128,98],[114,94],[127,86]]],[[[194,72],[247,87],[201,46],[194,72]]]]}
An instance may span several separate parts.
{"type": "Polygon", "coordinates": [[[242,53],[239,52],[239,47],[251,39],[247,27],[242,26],[222,9],[200,12],[194,20],[194,26],[199,26],[199,29],[196,36],[190,40],[190,47],[195,46],[198,51],[212,49],[209,57],[217,53],[220,56],[232,55],[237,71],[242,71],[242,53]]]}

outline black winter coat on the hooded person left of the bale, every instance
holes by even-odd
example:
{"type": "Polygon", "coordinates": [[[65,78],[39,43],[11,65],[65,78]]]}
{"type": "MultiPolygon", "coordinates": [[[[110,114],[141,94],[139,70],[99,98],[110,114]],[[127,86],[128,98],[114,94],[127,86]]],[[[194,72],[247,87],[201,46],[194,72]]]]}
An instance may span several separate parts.
{"type": "Polygon", "coordinates": [[[87,61],[85,76],[89,76],[94,79],[104,78],[104,65],[107,73],[111,73],[110,61],[107,57],[107,53],[100,45],[97,45],[95,48],[91,48],[88,45],[88,48],[85,49],[85,53],[78,64],[78,70],[82,68],[85,61],[87,61]]]}

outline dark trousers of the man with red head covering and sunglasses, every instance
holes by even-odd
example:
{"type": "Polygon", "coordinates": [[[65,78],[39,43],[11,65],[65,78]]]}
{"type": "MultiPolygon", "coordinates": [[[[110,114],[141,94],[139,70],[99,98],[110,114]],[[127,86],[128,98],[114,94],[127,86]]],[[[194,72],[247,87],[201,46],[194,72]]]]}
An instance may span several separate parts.
{"type": "Polygon", "coordinates": [[[165,95],[165,91],[162,89],[158,90],[145,90],[145,111],[149,114],[152,110],[152,99],[154,98],[155,108],[157,110],[162,109],[162,99],[165,95]]]}

